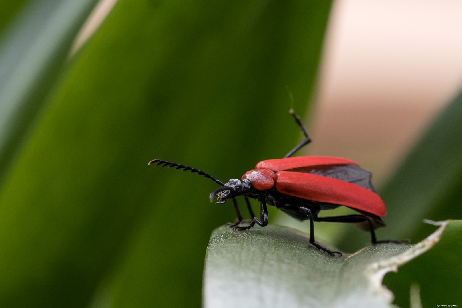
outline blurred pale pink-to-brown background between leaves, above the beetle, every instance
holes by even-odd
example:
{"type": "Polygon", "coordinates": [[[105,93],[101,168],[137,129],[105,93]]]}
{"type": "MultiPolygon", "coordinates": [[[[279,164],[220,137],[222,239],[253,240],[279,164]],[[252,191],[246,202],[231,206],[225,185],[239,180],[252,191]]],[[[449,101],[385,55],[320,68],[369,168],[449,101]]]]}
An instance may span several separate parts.
{"type": "Polygon", "coordinates": [[[462,1],[334,1],[307,154],[353,159],[380,187],[460,90],[461,32],[462,1]]]}

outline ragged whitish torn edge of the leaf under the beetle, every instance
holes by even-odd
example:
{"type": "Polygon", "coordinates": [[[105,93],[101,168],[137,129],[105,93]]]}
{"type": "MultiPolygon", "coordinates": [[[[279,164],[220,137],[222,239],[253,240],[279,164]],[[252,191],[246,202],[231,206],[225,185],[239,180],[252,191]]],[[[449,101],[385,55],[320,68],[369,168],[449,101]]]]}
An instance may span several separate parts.
{"type": "Polygon", "coordinates": [[[414,244],[413,247],[407,249],[405,252],[395,255],[389,259],[374,262],[367,266],[364,271],[369,282],[370,290],[372,290],[374,295],[383,297],[390,304],[394,301],[395,296],[392,291],[388,290],[388,288],[382,284],[383,277],[385,277],[385,275],[389,272],[398,272],[399,266],[415,259],[438,243],[450,220],[439,222],[424,220],[424,222],[439,225],[439,228],[421,242],[414,244]]]}

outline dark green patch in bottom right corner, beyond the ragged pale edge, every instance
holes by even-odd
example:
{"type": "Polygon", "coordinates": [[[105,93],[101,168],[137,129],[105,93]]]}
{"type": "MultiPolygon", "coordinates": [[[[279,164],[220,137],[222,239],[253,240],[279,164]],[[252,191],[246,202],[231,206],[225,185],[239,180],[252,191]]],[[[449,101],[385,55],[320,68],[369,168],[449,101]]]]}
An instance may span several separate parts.
{"type": "Polygon", "coordinates": [[[441,240],[426,254],[383,279],[395,293],[395,304],[409,307],[411,284],[420,286],[422,307],[462,304],[462,221],[452,221],[441,240]]]}

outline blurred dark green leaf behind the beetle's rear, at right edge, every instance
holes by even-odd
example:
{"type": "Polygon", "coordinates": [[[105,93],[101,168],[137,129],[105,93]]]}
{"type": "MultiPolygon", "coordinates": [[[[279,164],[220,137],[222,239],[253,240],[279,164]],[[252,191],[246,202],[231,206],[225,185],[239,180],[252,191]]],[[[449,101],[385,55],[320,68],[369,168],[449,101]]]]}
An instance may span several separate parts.
{"type": "MultiPolygon", "coordinates": [[[[387,207],[378,238],[418,242],[434,227],[422,223],[462,218],[462,92],[437,116],[395,175],[379,192],[387,207]]],[[[355,251],[369,234],[349,228],[339,247],[355,251]]]]}

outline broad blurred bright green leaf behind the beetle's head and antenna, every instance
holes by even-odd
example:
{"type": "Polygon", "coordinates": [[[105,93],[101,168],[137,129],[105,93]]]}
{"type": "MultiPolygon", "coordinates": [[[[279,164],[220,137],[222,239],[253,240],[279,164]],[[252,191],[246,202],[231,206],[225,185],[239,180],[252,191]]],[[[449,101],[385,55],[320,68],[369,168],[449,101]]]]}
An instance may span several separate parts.
{"type": "Polygon", "coordinates": [[[300,136],[285,86],[304,115],[329,7],[120,0],[5,177],[0,306],[200,306],[207,241],[233,207],[147,162],[225,181],[283,157],[300,136]]]}

